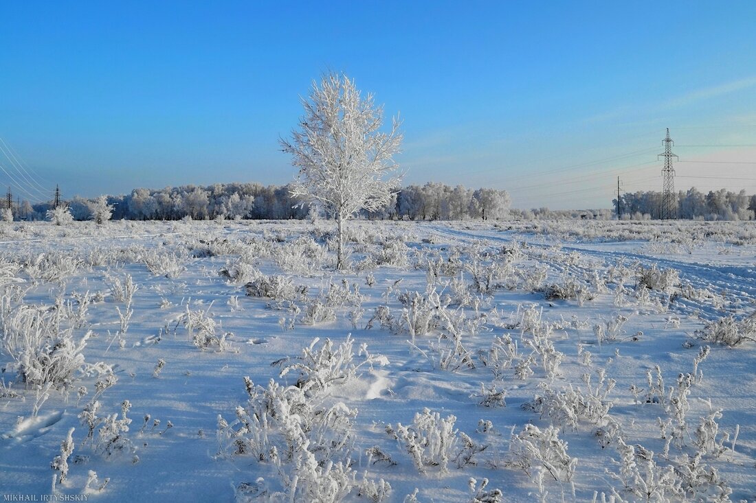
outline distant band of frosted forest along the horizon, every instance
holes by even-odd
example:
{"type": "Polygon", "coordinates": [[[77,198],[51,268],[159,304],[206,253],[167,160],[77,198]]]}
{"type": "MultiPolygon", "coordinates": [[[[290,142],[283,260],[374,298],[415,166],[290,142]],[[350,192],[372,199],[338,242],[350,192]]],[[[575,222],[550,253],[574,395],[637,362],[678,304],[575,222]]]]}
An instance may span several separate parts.
{"type": "MultiPolygon", "coordinates": [[[[286,220],[307,218],[308,207],[298,205],[290,195],[290,187],[261,184],[214,184],[208,187],[187,185],[160,190],[135,189],[125,196],[107,196],[113,205],[113,219],[180,220],[192,218],[242,218],[255,220],[286,220]]],[[[73,218],[88,220],[95,199],[76,196],[65,201],[73,218]]],[[[622,219],[650,220],[660,217],[662,193],[646,191],[625,193],[620,198],[622,219]]],[[[440,183],[397,188],[392,202],[381,211],[364,212],[363,218],[423,220],[496,220],[500,218],[617,218],[617,200],[612,209],[552,211],[549,208],[510,208],[506,190],[467,189],[440,183]]],[[[31,205],[23,201],[14,206],[17,220],[42,220],[50,203],[31,205]]],[[[756,195],[745,190],[733,193],[726,189],[699,192],[696,188],[677,193],[679,218],[698,220],[753,220],[756,195]]]]}

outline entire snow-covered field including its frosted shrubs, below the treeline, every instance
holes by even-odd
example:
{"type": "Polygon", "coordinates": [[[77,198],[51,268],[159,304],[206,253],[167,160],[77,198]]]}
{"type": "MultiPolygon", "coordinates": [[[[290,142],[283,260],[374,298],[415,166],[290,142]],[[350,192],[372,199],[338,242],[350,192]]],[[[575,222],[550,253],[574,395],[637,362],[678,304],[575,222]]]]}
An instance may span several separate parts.
{"type": "Polygon", "coordinates": [[[3,501],[756,499],[753,223],[334,227],[0,227],[3,501]]]}

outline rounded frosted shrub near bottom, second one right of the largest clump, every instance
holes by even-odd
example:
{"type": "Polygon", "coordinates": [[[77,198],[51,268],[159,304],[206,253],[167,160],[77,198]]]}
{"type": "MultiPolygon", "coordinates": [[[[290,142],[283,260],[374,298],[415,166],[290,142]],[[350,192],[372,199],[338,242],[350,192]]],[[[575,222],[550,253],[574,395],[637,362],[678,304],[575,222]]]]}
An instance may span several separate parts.
{"type": "Polygon", "coordinates": [[[544,469],[559,482],[571,482],[578,460],[567,454],[567,443],[559,439],[559,430],[553,426],[541,430],[534,424],[512,435],[507,464],[520,468],[529,476],[531,471],[544,469]]]}

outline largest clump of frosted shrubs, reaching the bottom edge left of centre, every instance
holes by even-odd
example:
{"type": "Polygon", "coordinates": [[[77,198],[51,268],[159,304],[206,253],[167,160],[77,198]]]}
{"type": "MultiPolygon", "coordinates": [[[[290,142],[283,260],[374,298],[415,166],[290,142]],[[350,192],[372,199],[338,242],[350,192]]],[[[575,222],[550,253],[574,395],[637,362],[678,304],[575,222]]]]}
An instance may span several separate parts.
{"type": "MultiPolygon", "coordinates": [[[[283,492],[269,495],[275,501],[335,502],[358,488],[361,494],[379,498],[373,501],[381,501],[390,486],[367,477],[358,483],[351,468],[357,410],[326,400],[323,393],[356,377],[359,365],[352,363],[352,341],[348,339],[337,350],[330,341],[315,349],[317,342],[305,348],[296,363],[279,362],[284,366],[282,375],[299,372],[298,386],[284,387],[271,379],[263,388],[244,379],[249,395],[246,407],[237,407],[232,423],[218,415],[218,456],[253,455],[274,464],[283,486],[283,492]]],[[[364,345],[361,353],[367,355],[364,345]]],[[[364,363],[380,359],[368,355],[364,363]]],[[[241,484],[237,498],[247,501],[255,493],[268,492],[266,487],[261,479],[255,486],[241,484]]]]}

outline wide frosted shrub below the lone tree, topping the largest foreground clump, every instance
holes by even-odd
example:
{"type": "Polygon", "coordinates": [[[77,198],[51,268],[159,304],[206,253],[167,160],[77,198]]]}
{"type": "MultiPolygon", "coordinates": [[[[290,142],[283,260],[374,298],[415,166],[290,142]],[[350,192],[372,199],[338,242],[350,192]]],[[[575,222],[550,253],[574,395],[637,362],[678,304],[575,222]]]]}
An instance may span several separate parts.
{"type": "Polygon", "coordinates": [[[302,356],[280,361],[280,377],[296,372],[299,374],[297,387],[305,391],[321,391],[332,384],[344,384],[354,379],[365,366],[372,369],[373,365],[389,363],[386,356],[370,354],[367,344],[361,344],[357,355],[363,360],[355,364],[355,341],[351,334],[336,349],[330,339],[326,339],[320,347],[317,346],[319,341],[319,338],[314,338],[308,347],[302,349],[302,356]]]}

